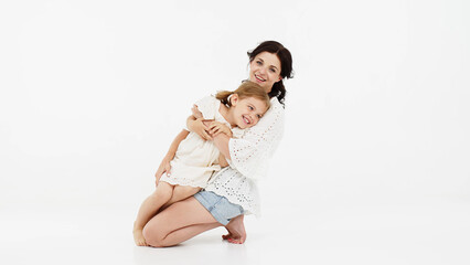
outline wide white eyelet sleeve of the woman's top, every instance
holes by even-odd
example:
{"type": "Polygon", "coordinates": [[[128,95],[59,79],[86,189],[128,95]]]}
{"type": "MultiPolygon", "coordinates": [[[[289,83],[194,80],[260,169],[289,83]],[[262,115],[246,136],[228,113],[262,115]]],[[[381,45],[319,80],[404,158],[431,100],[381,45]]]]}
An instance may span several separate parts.
{"type": "Polygon", "coordinates": [[[228,141],[231,167],[247,178],[259,179],[265,174],[268,160],[282,137],[284,108],[277,99],[276,103],[242,138],[228,141]]]}

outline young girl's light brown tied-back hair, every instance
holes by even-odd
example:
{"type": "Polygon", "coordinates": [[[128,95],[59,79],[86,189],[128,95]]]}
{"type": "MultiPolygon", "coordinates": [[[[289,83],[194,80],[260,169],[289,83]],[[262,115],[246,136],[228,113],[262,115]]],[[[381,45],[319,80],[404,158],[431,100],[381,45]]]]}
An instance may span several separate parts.
{"type": "Polygon", "coordinates": [[[254,82],[245,81],[234,92],[229,92],[229,91],[218,92],[215,95],[215,98],[221,100],[226,106],[232,107],[229,96],[233,95],[233,94],[237,94],[239,99],[244,99],[244,98],[247,98],[247,97],[257,98],[257,99],[259,99],[259,100],[261,100],[266,104],[266,109],[269,109],[269,107],[270,107],[270,100],[269,100],[268,94],[265,92],[265,89],[261,86],[259,86],[258,84],[256,84],[254,82]]]}

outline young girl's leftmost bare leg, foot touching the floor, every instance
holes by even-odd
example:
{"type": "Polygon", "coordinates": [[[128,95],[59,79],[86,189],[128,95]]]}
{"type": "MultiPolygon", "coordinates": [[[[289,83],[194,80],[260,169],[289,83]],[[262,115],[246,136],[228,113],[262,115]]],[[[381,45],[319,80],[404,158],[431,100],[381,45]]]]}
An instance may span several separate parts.
{"type": "Polygon", "coordinates": [[[146,240],[142,230],[146,223],[157,214],[158,210],[170,200],[173,194],[173,186],[161,181],[157,186],[157,190],[149,195],[139,209],[136,222],[133,223],[133,241],[136,245],[145,246],[146,240]]]}

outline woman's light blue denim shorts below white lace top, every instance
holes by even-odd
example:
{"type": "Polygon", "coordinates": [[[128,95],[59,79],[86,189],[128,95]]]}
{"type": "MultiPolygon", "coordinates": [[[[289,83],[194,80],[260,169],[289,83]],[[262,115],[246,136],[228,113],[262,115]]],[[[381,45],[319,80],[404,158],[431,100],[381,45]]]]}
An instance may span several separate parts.
{"type": "Polygon", "coordinates": [[[244,213],[241,205],[234,204],[225,197],[217,195],[212,191],[202,190],[195,193],[194,198],[223,225],[227,225],[231,219],[244,213]]]}

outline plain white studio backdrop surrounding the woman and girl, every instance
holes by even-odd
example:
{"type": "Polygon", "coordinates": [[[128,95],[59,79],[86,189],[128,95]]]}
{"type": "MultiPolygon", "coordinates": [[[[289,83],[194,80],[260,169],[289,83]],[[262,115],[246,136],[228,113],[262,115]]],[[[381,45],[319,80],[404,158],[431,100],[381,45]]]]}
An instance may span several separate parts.
{"type": "Polygon", "coordinates": [[[468,264],[467,1],[2,1],[2,264],[468,264]],[[133,246],[196,99],[293,56],[243,246],[133,246]],[[308,262],[307,262],[308,261],[308,262]]]}

